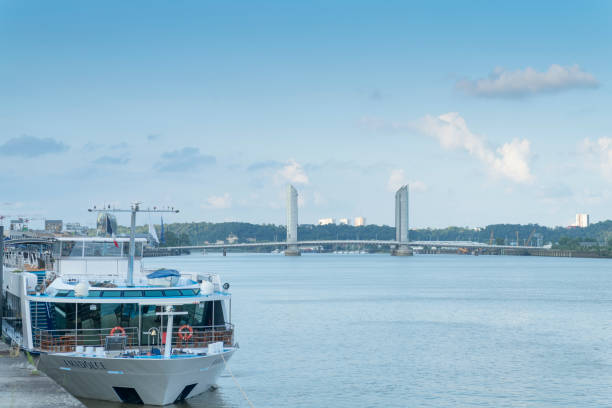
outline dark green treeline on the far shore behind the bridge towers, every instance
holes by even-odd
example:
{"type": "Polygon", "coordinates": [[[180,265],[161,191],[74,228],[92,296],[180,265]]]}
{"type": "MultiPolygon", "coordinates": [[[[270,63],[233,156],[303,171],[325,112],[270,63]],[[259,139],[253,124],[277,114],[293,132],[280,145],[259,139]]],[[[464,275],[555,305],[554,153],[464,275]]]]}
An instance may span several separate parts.
{"type": "MultiPolygon", "coordinates": [[[[155,226],[160,235],[160,226],[155,226]]],[[[198,245],[206,242],[227,241],[228,237],[237,237],[236,242],[267,242],[284,241],[286,228],[284,225],[249,224],[246,222],[192,222],[164,225],[164,246],[198,245]]],[[[146,233],[148,226],[138,227],[137,232],[146,233]]],[[[477,241],[488,243],[493,237],[493,243],[512,244],[516,241],[518,231],[519,244],[525,245],[531,236],[531,245],[538,239],[541,243],[575,246],[580,242],[598,242],[607,245],[612,237],[612,221],[592,224],[587,228],[549,228],[538,224],[495,224],[482,229],[462,227],[427,228],[410,230],[410,240],[416,241],[477,241]],[[491,234],[491,232],[493,234],[491,234]]],[[[120,227],[119,232],[127,232],[120,227]]],[[[354,227],[351,225],[300,225],[299,240],[332,240],[332,239],[395,239],[395,228],[387,225],[367,225],[354,227]]]]}

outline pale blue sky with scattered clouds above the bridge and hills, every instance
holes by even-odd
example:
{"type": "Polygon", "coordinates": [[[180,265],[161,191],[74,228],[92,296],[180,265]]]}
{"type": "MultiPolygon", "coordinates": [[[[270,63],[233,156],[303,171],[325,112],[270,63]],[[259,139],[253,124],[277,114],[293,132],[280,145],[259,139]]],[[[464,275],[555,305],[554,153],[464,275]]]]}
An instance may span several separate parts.
{"type": "Polygon", "coordinates": [[[0,1],[0,214],[612,218],[610,3],[462,3],[0,1]]]}

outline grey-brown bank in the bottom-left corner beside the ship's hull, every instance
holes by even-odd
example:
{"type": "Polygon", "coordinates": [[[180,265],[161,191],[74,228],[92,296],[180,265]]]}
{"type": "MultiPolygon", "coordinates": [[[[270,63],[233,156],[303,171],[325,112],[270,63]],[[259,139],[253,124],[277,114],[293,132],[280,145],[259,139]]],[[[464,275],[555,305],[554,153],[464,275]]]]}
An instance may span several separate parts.
{"type": "Polygon", "coordinates": [[[0,408],[85,407],[4,341],[0,341],[0,390],[0,408]]]}

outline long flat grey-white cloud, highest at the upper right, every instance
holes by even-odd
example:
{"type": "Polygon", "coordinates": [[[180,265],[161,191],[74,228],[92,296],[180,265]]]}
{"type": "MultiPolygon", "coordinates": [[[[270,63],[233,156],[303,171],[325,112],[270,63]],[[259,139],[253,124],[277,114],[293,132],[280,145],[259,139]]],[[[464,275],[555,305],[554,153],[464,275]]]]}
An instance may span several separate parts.
{"type": "Polygon", "coordinates": [[[578,65],[562,67],[553,64],[545,72],[538,72],[531,67],[516,71],[496,68],[488,78],[466,79],[457,82],[456,86],[469,95],[512,98],[573,88],[597,88],[599,82],[578,65]]]}

